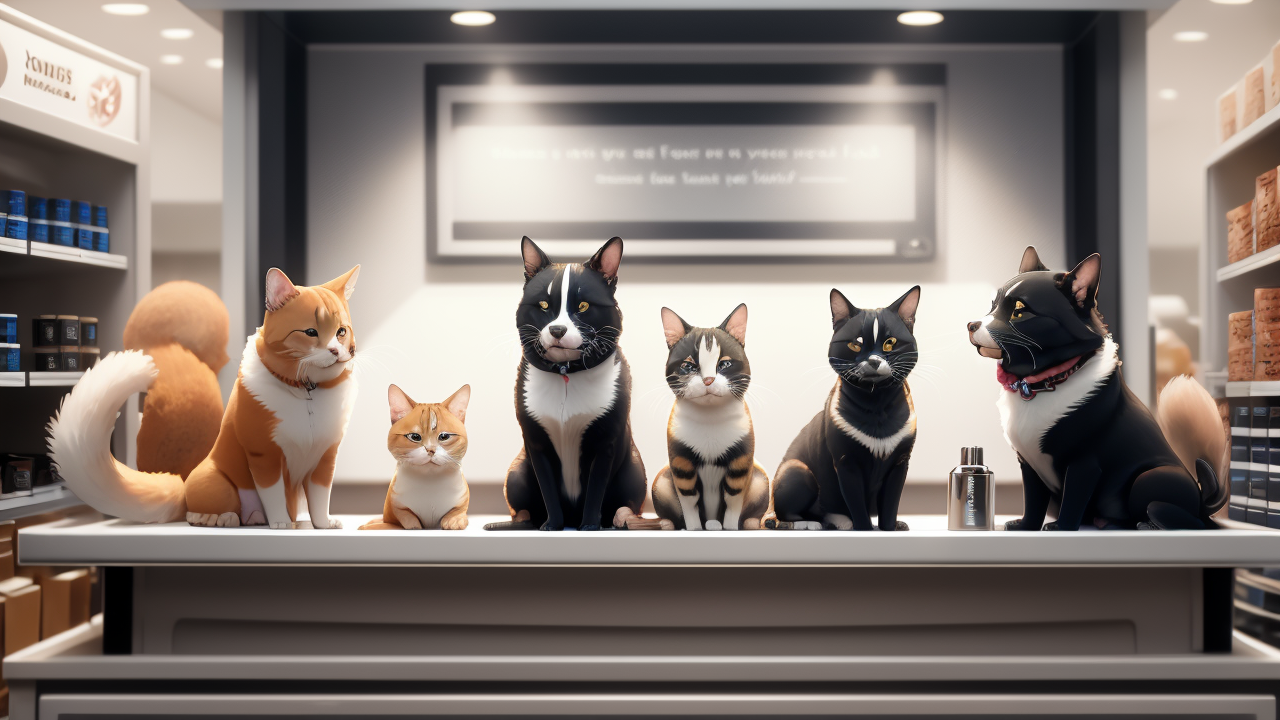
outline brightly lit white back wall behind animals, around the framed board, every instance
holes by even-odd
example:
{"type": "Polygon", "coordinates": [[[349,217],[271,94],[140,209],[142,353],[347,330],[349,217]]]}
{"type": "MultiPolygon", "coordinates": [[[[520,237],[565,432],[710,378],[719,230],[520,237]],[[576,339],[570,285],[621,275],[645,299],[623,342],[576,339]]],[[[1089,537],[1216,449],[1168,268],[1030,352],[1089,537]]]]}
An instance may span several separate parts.
{"type": "Polygon", "coordinates": [[[995,366],[968,345],[965,323],[987,311],[1028,243],[1055,268],[1065,265],[1062,63],[1056,46],[314,46],[307,69],[307,279],[323,282],[362,265],[352,299],[361,389],[337,479],[390,478],[392,382],[420,402],[439,402],[471,384],[463,462],[471,482],[502,482],[521,445],[513,413],[520,238],[512,238],[509,265],[428,263],[424,67],[604,60],[947,64],[942,237],[933,261],[719,266],[628,264],[623,258],[621,345],[635,378],[631,424],[649,477],[667,461],[672,402],[663,380],[659,307],[671,306],[694,324],[718,324],[736,304],[749,305],[756,461],[772,475],[835,379],[826,364],[831,288],[872,307],[919,283],[922,360],[911,378],[919,439],[909,482],[945,480],[964,445],[984,446],[996,477],[1016,482],[1016,460],[995,406],[1002,392],[995,366]]]}

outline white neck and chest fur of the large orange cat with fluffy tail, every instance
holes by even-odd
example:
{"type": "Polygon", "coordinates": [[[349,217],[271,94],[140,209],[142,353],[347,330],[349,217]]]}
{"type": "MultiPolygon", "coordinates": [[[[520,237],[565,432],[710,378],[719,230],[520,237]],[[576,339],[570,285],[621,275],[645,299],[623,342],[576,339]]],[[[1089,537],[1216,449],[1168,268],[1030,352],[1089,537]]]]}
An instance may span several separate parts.
{"type": "Polygon", "coordinates": [[[351,375],[332,388],[306,391],[278,380],[257,355],[257,336],[250,336],[241,360],[241,384],[279,420],[271,441],[284,454],[293,484],[315,470],[320,457],[342,441],[356,400],[351,375]]]}

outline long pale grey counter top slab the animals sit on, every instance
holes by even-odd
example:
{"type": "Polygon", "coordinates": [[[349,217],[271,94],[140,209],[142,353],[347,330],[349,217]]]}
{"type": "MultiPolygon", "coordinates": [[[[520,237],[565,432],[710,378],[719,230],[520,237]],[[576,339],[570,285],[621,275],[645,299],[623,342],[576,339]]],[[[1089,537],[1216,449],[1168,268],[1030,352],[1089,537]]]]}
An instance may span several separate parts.
{"type": "MultiPolygon", "coordinates": [[[[841,565],[841,566],[1280,566],[1280,532],[1231,524],[1206,532],[948,532],[909,516],[904,533],[486,532],[192,528],[65,519],[19,530],[26,565],[841,565]]],[[[1001,519],[1002,521],[1004,519],[1001,519]]]]}

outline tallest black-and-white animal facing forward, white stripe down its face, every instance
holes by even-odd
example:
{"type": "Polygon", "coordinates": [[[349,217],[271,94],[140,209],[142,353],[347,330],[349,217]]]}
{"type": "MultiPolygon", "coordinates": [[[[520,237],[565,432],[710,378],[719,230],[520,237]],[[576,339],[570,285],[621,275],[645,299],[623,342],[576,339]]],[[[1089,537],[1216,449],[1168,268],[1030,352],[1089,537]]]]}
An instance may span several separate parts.
{"type": "Polygon", "coordinates": [[[622,238],[581,265],[553,264],[527,237],[520,250],[516,419],[525,447],[507,471],[512,521],[486,529],[598,530],[602,518],[621,528],[640,512],[646,484],[631,439],[631,370],[618,350],[622,238]]]}

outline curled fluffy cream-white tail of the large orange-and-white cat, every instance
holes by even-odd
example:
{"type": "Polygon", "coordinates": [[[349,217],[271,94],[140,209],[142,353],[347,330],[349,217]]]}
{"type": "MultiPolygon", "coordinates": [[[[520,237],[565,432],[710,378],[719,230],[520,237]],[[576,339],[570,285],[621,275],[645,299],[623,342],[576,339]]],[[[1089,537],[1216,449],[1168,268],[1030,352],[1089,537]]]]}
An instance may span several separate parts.
{"type": "Polygon", "coordinates": [[[138,523],[173,523],[187,516],[182,478],[140,473],[111,456],[118,409],[155,377],[155,364],[140,351],[102,357],[49,423],[49,452],[68,487],[95,510],[138,523]]]}

